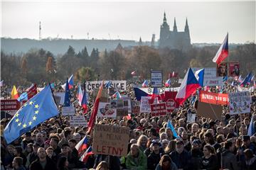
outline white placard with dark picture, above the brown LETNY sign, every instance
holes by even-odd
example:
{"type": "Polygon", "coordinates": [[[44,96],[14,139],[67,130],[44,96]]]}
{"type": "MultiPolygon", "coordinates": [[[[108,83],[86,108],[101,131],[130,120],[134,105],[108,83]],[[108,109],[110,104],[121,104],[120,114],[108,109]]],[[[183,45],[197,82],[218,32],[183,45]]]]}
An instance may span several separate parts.
{"type": "Polygon", "coordinates": [[[100,102],[99,108],[97,111],[97,116],[100,118],[116,118],[117,117],[117,109],[111,108],[110,103],[100,102]]]}

